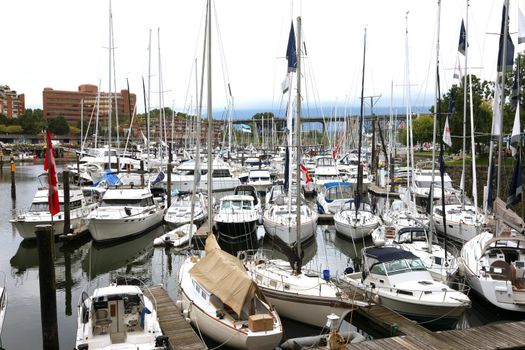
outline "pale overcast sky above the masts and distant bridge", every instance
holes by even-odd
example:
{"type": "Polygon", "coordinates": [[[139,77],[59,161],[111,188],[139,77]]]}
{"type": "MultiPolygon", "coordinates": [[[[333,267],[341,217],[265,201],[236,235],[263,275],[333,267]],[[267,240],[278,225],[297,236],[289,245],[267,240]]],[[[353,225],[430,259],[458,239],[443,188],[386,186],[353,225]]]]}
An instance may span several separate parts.
{"type": "MultiPolygon", "coordinates": [[[[45,87],[74,91],[89,83],[107,91],[109,4],[109,0],[3,2],[0,84],[24,93],[26,108],[42,108],[45,87]]],[[[493,80],[503,0],[469,4],[468,66],[480,78],[493,80]]],[[[129,81],[139,113],[145,109],[142,79],[150,91],[151,108],[162,104],[188,112],[196,105],[200,78],[195,72],[200,76],[202,69],[205,6],[205,0],[112,0],[111,84],[116,81],[120,90],[129,81]]],[[[517,7],[518,2],[511,0],[510,32],[516,46],[517,7]]],[[[297,27],[298,16],[307,53],[302,61],[303,105],[327,106],[326,114],[359,113],[365,28],[364,95],[380,96],[374,99],[377,108],[393,105],[399,113],[404,113],[407,102],[433,104],[437,0],[214,0],[214,110],[233,105],[234,110],[266,111],[286,103],[281,92],[285,52],[290,24],[297,27]],[[228,84],[232,99],[227,98],[228,84]]],[[[452,76],[466,16],[467,1],[441,1],[442,93],[457,83],[452,76]]],[[[464,56],[459,57],[463,68],[464,56]]]]}

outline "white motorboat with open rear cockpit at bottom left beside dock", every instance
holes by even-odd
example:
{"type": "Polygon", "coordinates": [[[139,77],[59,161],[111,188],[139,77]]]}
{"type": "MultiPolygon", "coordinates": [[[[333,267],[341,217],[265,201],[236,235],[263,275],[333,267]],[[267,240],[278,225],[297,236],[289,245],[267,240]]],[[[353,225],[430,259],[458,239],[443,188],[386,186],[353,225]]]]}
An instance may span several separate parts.
{"type": "Polygon", "coordinates": [[[81,295],[75,350],[168,349],[157,306],[138,286],[111,284],[81,295]]]}

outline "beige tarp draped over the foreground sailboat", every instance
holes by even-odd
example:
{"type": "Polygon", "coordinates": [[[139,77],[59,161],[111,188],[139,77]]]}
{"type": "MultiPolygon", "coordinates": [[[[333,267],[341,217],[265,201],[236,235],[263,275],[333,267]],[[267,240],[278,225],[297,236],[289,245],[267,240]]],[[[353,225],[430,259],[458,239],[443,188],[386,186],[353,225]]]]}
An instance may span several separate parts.
{"type": "Polygon", "coordinates": [[[206,256],[191,268],[190,274],[240,315],[243,305],[257,292],[257,285],[239,259],[220,249],[213,234],[206,239],[205,249],[206,256]]]}

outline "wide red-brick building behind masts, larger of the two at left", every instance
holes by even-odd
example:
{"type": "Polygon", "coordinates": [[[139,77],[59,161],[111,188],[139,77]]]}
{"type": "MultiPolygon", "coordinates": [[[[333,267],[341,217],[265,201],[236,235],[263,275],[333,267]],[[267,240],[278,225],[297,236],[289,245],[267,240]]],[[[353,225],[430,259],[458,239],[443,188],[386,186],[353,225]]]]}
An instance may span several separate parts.
{"type": "MultiPolygon", "coordinates": [[[[78,91],[54,90],[46,87],[42,93],[44,118],[64,117],[70,125],[77,126],[81,115],[89,120],[91,115],[97,114],[100,118],[106,118],[109,110],[109,94],[106,92],[98,93],[95,85],[83,84],[78,87],[78,91]],[[98,97],[98,103],[97,103],[98,97]]],[[[136,95],[130,94],[128,90],[121,90],[117,94],[111,94],[111,110],[115,115],[115,99],[119,115],[129,118],[130,110],[133,111],[136,103],[136,95]],[[115,96],[116,95],[116,96],[115,96]]]]}

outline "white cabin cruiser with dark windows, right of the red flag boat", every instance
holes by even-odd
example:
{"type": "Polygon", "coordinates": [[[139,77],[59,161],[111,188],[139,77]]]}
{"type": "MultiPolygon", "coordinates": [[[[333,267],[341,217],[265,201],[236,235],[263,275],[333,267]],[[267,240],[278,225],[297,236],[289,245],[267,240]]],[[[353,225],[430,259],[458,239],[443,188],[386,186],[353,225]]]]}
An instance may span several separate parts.
{"type": "Polygon", "coordinates": [[[110,242],[151,230],[162,223],[164,209],[149,188],[110,187],[101,205],[88,216],[89,232],[96,242],[110,242]]]}

